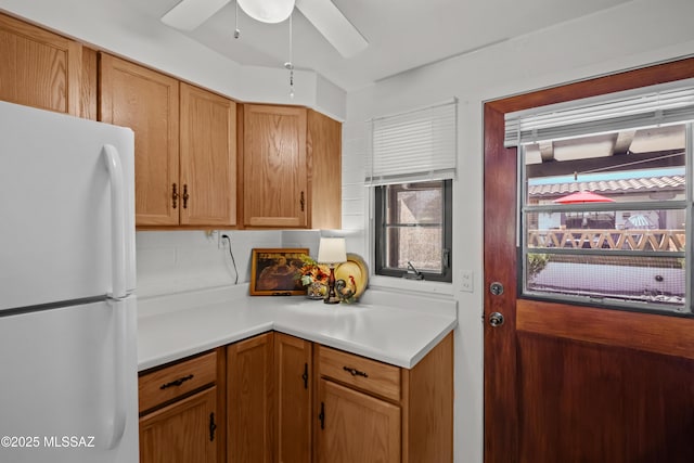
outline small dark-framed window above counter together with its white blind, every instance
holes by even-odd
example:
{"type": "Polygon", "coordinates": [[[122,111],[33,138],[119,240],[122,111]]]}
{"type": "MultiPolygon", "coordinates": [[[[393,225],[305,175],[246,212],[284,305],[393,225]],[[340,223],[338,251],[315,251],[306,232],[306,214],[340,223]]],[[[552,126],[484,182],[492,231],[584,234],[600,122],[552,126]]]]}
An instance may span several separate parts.
{"type": "Polygon", "coordinates": [[[457,101],[372,120],[376,274],[452,281],[457,101]]]}

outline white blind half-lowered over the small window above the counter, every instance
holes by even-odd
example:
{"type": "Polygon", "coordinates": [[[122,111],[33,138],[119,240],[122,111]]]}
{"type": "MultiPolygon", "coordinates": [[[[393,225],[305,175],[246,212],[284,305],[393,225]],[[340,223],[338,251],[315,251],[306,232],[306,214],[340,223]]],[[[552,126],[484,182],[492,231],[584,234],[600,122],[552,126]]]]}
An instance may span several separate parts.
{"type": "Polygon", "coordinates": [[[455,177],[458,100],[374,118],[367,184],[455,177]]]}

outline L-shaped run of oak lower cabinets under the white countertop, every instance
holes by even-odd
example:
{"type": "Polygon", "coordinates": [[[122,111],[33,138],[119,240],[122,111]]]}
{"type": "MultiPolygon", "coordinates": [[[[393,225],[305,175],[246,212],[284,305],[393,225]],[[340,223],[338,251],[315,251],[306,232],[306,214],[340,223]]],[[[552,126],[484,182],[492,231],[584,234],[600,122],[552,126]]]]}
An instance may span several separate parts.
{"type": "Polygon", "coordinates": [[[269,332],[140,376],[141,462],[453,461],[453,335],[408,370],[269,332]]]}

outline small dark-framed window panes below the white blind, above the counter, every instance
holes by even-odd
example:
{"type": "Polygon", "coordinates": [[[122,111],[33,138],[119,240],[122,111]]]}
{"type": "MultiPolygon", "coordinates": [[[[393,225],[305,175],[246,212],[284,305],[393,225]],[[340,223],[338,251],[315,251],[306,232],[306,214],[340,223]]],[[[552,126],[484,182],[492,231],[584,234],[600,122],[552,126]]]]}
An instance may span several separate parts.
{"type": "Polygon", "coordinates": [[[376,187],[375,206],[376,273],[450,282],[451,181],[376,187]]]}

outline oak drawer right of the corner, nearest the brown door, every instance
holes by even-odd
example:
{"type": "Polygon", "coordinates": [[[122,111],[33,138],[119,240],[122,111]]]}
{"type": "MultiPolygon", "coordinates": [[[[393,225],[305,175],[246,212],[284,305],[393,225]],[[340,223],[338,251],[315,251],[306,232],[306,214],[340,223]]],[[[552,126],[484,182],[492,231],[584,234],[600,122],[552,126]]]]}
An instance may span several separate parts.
{"type": "Polygon", "coordinates": [[[351,385],[390,400],[400,401],[400,369],[398,366],[319,346],[321,376],[351,385]]]}

